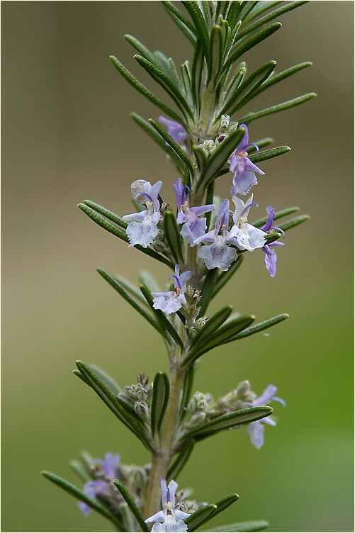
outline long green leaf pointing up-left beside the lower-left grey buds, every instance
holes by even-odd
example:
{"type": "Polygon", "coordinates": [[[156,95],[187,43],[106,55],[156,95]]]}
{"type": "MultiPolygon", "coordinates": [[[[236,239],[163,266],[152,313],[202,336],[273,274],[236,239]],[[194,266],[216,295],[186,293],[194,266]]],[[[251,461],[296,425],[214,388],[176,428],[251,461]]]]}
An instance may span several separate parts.
{"type": "Polygon", "coordinates": [[[147,439],[145,433],[145,427],[142,425],[141,420],[138,417],[132,417],[128,413],[128,410],[124,408],[122,402],[119,401],[119,398],[115,396],[111,391],[102,383],[101,379],[95,374],[89,365],[85,364],[84,361],[76,361],[77,367],[81,374],[83,374],[86,381],[91,386],[93,391],[98,395],[103,403],[113,412],[118,419],[123,422],[123,424],[128,427],[137,437],[142,441],[145,447],[148,450],[151,450],[152,447],[150,442],[147,439]]]}

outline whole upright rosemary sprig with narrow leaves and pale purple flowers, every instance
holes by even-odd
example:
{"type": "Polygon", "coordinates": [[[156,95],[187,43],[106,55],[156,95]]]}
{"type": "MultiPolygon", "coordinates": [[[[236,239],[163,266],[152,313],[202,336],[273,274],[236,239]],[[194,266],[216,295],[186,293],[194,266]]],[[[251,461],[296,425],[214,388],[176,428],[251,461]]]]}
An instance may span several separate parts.
{"type": "MultiPolygon", "coordinates": [[[[264,218],[248,222],[255,204],[249,191],[257,185],[257,174],[264,174],[259,164],[290,150],[288,146],[261,150],[273,140],[249,142],[248,128],[254,120],[298,106],[315,94],[247,114],[243,111],[245,104],[263,91],[310,66],[310,62],[303,62],[276,74],[276,62],[268,61],[247,74],[244,61],[248,50],[281,28],[279,16],[305,2],[183,1],[185,14],[174,3],[162,4],[191,42],[191,62],[185,61],[177,69],[171,57],[151,52],[132,35],[125,38],[137,51],[135,60],[164,89],[175,111],[118,59],[112,56],[111,60],[128,83],[164,113],[158,120],[145,120],[135,113],[132,118],[176,168],[179,177],[172,184],[176,204],[171,206],[159,196],[162,181],[150,184],[138,179],[131,185],[133,214],[120,217],[89,200],[79,203],[79,208],[101,228],[167,267],[164,291],[146,272],[140,274],[139,288],[101,269],[98,274],[162,337],[169,374],[158,371],[152,383],[140,374],[137,383],[121,389],[98,366],[77,361],[74,370],[140,439],[151,461],[137,467],[121,464],[117,454],[108,453],[101,460],[83,453],[81,461],[71,463],[85,483],[83,490],[43,472],[79,500],[85,515],[95,510],[122,532],[148,532],[151,524],[154,532],[193,532],[237,500],[237,494],[216,503],[191,500],[188,492],[176,491],[174,480],[193,447],[222,430],[245,425],[252,444],[261,447],[265,425],[276,424],[270,416],[273,409],[267,404],[284,402],[276,396],[274,385],[267,386],[258,397],[248,381],[222,398],[193,393],[196,363],[201,359],[203,364],[210,357],[205,354],[215,347],[255,335],[288,315],[254,324],[252,315],[232,315],[230,305],[213,315],[208,306],[256,249],[264,257],[269,274],[275,276],[276,248],[283,246],[288,230],[308,218],[301,215],[281,220],[276,226],[274,220],[298,208],[275,213],[268,206],[264,218]],[[230,198],[220,199],[215,196],[215,183],[228,173],[230,198]]],[[[237,432],[231,434],[233,437],[237,432]]],[[[264,521],[240,522],[210,531],[260,531],[266,526],[264,521]]]]}

